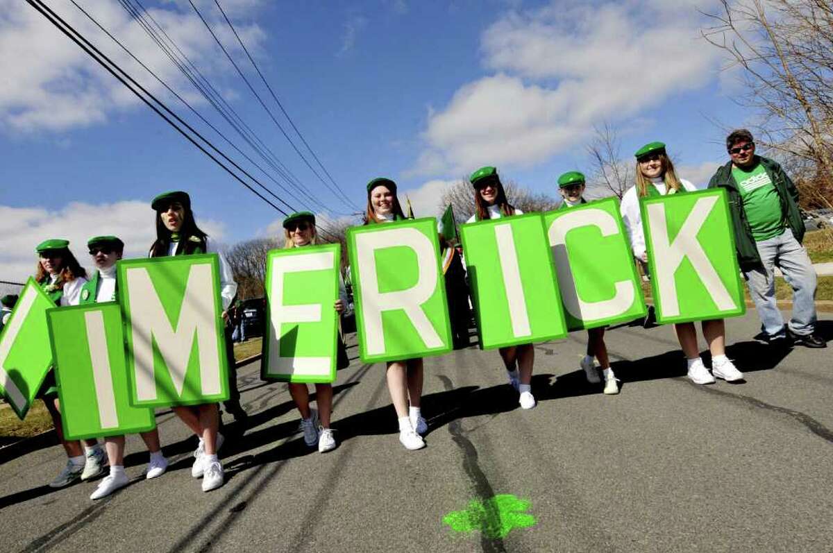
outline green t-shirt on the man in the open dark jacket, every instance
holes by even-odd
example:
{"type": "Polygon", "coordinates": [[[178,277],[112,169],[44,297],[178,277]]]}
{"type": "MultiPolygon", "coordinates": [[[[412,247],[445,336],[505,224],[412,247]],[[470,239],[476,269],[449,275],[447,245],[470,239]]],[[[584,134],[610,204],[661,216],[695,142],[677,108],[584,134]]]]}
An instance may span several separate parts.
{"type": "Polygon", "coordinates": [[[732,167],[731,174],[741,191],[746,220],[749,221],[755,241],[768,240],[784,232],[781,197],[764,166],[758,163],[750,171],[732,167]]]}

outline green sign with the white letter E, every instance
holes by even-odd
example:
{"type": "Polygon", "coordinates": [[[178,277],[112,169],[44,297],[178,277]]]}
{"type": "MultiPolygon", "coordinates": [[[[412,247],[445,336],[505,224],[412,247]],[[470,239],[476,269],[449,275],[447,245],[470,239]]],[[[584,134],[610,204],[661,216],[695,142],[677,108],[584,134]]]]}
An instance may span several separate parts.
{"type": "Polygon", "coordinates": [[[336,380],[338,244],[272,250],[266,263],[267,331],[261,377],[336,380]]]}

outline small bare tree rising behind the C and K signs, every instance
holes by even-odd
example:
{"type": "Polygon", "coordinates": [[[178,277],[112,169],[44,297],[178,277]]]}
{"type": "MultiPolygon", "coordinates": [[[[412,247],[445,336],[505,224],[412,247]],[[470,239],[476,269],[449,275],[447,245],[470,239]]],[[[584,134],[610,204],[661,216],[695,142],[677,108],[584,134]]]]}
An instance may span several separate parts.
{"type": "Polygon", "coordinates": [[[633,163],[621,157],[621,141],[608,124],[595,127],[596,136],[587,146],[593,172],[587,183],[590,194],[600,197],[613,196],[620,200],[633,184],[633,163]]]}

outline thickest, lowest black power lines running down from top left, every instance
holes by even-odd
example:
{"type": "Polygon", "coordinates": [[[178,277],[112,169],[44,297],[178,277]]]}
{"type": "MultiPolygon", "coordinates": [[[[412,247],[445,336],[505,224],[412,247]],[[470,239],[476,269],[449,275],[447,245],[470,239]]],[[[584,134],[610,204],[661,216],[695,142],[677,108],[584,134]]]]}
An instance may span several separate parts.
{"type": "MultiPolygon", "coordinates": [[[[270,202],[267,199],[267,197],[262,196],[262,194],[260,192],[257,192],[257,190],[252,188],[252,186],[249,185],[247,182],[245,182],[241,177],[239,177],[237,175],[237,173],[233,172],[230,168],[228,168],[226,165],[224,165],[219,159],[217,159],[217,157],[212,155],[211,152],[208,152],[207,149],[202,146],[202,144],[197,142],[197,140],[194,139],[194,137],[192,137],[190,134],[188,134],[188,132],[185,132],[184,130],[182,130],[182,127],[179,127],[177,125],[177,123],[173,122],[170,117],[167,117],[167,115],[165,113],[160,111],[160,109],[157,108],[155,105],[153,105],[153,103],[150,100],[148,100],[147,97],[150,97],[153,102],[156,102],[160,107],[162,107],[162,109],[165,112],[170,114],[170,116],[173,117],[174,119],[176,119],[177,122],[179,122],[183,127],[186,127],[189,132],[196,135],[202,142],[205,142],[207,144],[207,147],[210,147],[214,152],[217,152],[217,154],[219,154],[221,157],[223,157],[227,162],[230,162],[234,167],[237,168],[238,171],[242,172],[247,177],[251,178],[252,181],[257,182],[257,179],[255,179],[254,177],[249,175],[246,172],[246,170],[242,169],[242,167],[238,166],[236,162],[234,162],[231,158],[227,157],[226,154],[224,154],[223,152],[218,150],[217,147],[215,147],[212,144],[212,142],[208,141],[205,137],[202,137],[202,134],[197,132],[197,130],[195,130],[193,127],[191,127],[187,122],[183,121],[181,117],[177,116],[176,113],[172,112],[163,102],[161,102],[157,97],[153,96],[151,92],[148,92],[147,89],[142,87],[142,85],[140,85],[132,77],[130,77],[130,75],[127,74],[127,72],[125,72],[121,67],[119,67],[115,62],[113,62],[104,53],[102,53],[100,50],[98,50],[98,48],[95,47],[91,42],[87,41],[87,39],[84,38],[81,33],[77,32],[77,30],[74,27],[72,27],[72,25],[70,25],[69,23],[64,21],[60,16],[57,15],[57,13],[53,12],[50,7],[48,7],[47,5],[45,5],[42,2],[42,0],[27,0],[27,2],[29,3],[30,6],[34,7],[38,12],[41,12],[41,14],[44,17],[47,18],[47,21],[51,22],[52,25],[57,27],[57,29],[59,31],[61,31],[65,35],[67,35],[67,37],[69,37],[69,39],[72,40],[72,42],[75,42],[78,45],[78,47],[81,47],[81,49],[84,52],[86,52],[87,55],[92,57],[96,62],[98,62],[99,65],[104,67],[107,70],[107,72],[112,74],[113,77],[116,77],[119,82],[121,82],[125,87],[127,87],[127,89],[129,89],[131,92],[133,92],[133,94],[135,94],[140,100],[142,100],[142,102],[147,104],[147,106],[150,107],[154,112],[156,112],[157,115],[162,117],[162,119],[164,119],[165,122],[167,122],[169,125],[174,127],[174,129],[176,129],[177,132],[182,134],[183,137],[187,138],[187,140],[189,142],[192,142],[192,144],[194,146],[196,146],[197,148],[199,148],[201,152],[203,152],[208,157],[210,157],[213,162],[217,163],[217,165],[222,167],[222,169],[225,170],[229,175],[234,177],[237,180],[237,182],[240,182],[244,187],[247,187],[247,189],[250,192],[255,194],[257,197],[261,198],[264,202],[267,202],[267,204],[269,204],[271,207],[274,207],[277,210],[277,212],[281,212],[284,216],[288,215],[287,212],[283,211],[280,207],[277,207],[274,203],[270,202]],[[121,75],[119,73],[121,73],[121,75]],[[122,75],[123,75],[123,77],[122,77],[122,75]],[[142,96],[142,93],[140,93],[138,91],[141,91],[147,97],[142,96]]],[[[329,232],[327,232],[327,233],[329,234],[329,232]]],[[[334,235],[331,235],[331,236],[335,237],[334,235]]]]}

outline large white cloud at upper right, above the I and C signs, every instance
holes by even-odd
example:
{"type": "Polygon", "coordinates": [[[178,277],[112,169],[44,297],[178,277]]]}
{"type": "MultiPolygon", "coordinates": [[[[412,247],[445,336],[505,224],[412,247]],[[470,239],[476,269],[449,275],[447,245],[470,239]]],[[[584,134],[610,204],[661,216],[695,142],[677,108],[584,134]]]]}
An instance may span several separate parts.
{"type": "Polygon", "coordinates": [[[483,32],[493,74],[429,112],[409,174],[529,166],[581,144],[594,125],[711,82],[720,52],[699,37],[693,2],[554,2],[511,11],[483,32]]]}

